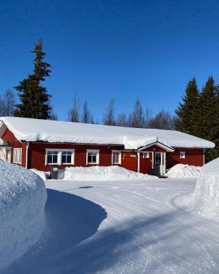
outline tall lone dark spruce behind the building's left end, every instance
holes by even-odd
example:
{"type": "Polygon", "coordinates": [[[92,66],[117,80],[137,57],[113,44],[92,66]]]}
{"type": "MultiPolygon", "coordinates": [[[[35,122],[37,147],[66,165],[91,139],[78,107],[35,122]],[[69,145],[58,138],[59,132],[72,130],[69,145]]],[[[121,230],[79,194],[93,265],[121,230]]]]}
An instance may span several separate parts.
{"type": "Polygon", "coordinates": [[[45,53],[42,51],[42,40],[38,40],[34,53],[34,72],[23,79],[15,89],[21,100],[16,105],[14,116],[35,119],[51,119],[51,106],[47,88],[41,85],[51,73],[51,65],[44,62],[45,53]]]}

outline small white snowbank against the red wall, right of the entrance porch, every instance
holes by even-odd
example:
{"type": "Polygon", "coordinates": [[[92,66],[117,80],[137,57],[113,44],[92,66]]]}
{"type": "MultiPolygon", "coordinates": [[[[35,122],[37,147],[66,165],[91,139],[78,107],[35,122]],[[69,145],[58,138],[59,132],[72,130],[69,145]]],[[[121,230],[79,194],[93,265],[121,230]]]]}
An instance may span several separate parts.
{"type": "Polygon", "coordinates": [[[166,175],[169,178],[196,178],[201,173],[200,166],[189,166],[188,164],[176,164],[169,169],[166,175]]]}

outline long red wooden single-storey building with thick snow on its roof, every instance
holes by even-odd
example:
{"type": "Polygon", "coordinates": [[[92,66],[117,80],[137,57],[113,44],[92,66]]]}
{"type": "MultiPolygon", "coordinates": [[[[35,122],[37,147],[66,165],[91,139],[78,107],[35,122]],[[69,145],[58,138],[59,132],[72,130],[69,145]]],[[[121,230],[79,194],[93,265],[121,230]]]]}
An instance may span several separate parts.
{"type": "Polygon", "coordinates": [[[182,132],[16,117],[0,119],[0,158],[28,169],[123,166],[164,175],[175,164],[203,166],[214,143],[182,132]]]}

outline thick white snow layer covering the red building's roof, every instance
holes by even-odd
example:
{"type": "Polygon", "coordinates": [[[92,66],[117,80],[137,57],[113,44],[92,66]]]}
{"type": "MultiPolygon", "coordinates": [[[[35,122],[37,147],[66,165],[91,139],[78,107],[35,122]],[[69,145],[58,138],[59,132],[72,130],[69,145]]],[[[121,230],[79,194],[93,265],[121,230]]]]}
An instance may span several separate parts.
{"type": "Polygon", "coordinates": [[[215,146],[214,142],[173,130],[113,127],[18,117],[1,117],[0,121],[0,137],[8,127],[18,140],[27,142],[124,145],[125,149],[138,149],[157,141],[168,147],[214,148],[215,146]]]}

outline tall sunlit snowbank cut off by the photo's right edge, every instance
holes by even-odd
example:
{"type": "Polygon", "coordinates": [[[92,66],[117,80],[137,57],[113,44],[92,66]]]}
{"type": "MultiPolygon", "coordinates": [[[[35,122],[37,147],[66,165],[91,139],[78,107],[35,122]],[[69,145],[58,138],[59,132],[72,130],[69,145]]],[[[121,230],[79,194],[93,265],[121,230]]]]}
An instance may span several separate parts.
{"type": "Polygon", "coordinates": [[[219,158],[203,166],[194,192],[183,202],[194,212],[219,221],[219,158]]]}

